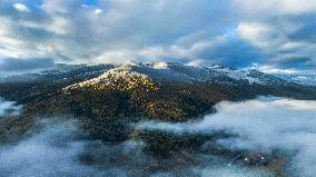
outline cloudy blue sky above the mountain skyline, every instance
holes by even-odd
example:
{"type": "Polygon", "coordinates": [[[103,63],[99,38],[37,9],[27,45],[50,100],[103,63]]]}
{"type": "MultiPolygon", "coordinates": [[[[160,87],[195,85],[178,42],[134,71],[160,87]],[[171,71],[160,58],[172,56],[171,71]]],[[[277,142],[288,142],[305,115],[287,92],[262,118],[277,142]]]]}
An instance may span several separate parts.
{"type": "Polygon", "coordinates": [[[58,62],[316,67],[316,0],[0,0],[0,70],[58,62]]]}

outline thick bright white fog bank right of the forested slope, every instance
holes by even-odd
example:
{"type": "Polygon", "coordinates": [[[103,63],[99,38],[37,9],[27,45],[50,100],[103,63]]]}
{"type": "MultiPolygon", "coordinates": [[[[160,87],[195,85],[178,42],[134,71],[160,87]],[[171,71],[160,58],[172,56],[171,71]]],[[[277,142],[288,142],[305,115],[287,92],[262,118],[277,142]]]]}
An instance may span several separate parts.
{"type": "Polygon", "coordinates": [[[280,149],[293,156],[293,176],[313,177],[316,161],[316,101],[259,98],[220,102],[218,112],[198,122],[145,122],[140,128],[175,134],[211,134],[224,130],[237,137],[218,140],[230,149],[270,153],[280,149]]]}

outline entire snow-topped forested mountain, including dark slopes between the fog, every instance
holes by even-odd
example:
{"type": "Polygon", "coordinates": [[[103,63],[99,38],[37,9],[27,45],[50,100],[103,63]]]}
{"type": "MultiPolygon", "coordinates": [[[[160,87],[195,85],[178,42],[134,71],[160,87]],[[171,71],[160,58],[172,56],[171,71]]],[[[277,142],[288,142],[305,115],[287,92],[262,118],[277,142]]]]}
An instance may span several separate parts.
{"type": "MultiPolygon", "coordinates": [[[[41,119],[69,118],[79,124],[79,139],[106,144],[141,140],[146,145],[145,153],[159,158],[175,154],[182,157],[184,150],[195,150],[213,139],[215,145],[208,149],[213,155],[241,163],[251,159],[249,165],[261,166],[256,153],[230,151],[215,142],[220,137],[231,136],[227,132],[179,136],[134,127],[139,121],[199,120],[217,111],[214,105],[219,101],[240,101],[258,96],[316,100],[316,87],[255,69],[220,66],[192,67],[174,62],[57,65],[42,72],[0,80],[0,97],[17,101],[14,106],[20,110],[19,115],[0,119],[0,144],[28,136],[39,127],[41,119]]],[[[87,159],[89,161],[89,157],[87,159]]],[[[277,169],[283,168],[286,158],[282,158],[279,165],[275,165],[275,158],[269,159],[271,165],[269,161],[264,164],[277,169]]]]}

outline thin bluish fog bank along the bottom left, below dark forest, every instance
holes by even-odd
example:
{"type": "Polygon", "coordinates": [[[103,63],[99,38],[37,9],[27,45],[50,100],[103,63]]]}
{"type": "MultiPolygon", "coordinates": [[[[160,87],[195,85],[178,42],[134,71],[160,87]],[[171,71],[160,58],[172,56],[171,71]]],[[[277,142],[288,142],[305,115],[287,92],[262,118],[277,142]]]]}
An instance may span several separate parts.
{"type": "Polygon", "coordinates": [[[211,156],[192,154],[191,159],[203,164],[181,166],[177,161],[181,159],[165,160],[147,155],[138,141],[107,144],[78,140],[77,124],[70,119],[43,119],[39,126],[41,128],[31,131],[24,139],[0,147],[0,176],[268,177],[255,169],[223,165],[223,160],[211,156]]]}

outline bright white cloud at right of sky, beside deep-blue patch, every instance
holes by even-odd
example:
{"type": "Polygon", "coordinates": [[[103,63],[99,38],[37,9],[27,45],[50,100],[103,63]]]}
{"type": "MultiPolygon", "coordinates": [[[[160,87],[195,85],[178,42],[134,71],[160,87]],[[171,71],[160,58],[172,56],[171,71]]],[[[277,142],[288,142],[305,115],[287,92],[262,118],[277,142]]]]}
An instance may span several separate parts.
{"type": "Polygon", "coordinates": [[[239,22],[237,35],[246,42],[265,53],[264,65],[284,67],[307,67],[316,63],[313,41],[292,39],[292,35],[302,29],[302,23],[290,20],[264,20],[239,22]]]}

